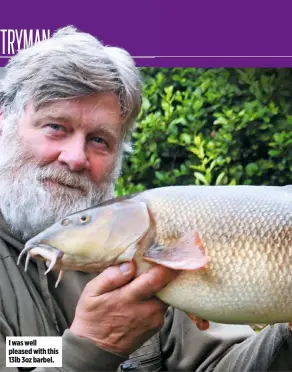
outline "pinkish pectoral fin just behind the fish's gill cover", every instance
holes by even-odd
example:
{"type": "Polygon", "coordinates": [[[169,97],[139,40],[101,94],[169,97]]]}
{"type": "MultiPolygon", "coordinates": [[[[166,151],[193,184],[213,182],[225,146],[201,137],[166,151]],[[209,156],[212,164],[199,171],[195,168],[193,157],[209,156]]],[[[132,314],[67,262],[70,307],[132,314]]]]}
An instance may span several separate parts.
{"type": "Polygon", "coordinates": [[[186,233],[170,246],[152,245],[143,258],[174,270],[197,270],[209,262],[197,233],[186,233]]]}

